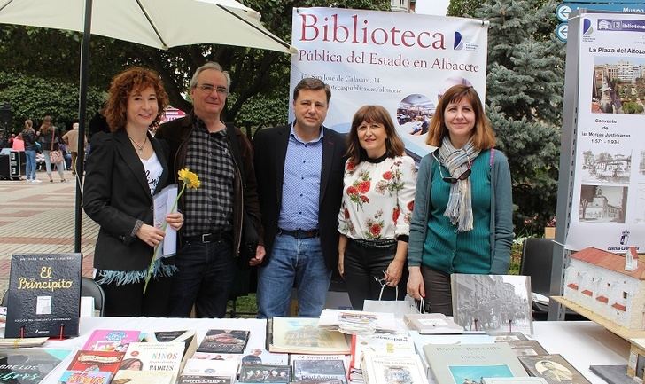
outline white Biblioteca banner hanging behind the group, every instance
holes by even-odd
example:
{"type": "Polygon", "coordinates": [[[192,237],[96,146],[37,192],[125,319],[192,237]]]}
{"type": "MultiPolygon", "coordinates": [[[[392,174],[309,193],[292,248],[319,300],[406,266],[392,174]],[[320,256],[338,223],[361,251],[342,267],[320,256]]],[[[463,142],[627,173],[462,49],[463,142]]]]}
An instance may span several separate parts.
{"type": "MultiPolygon", "coordinates": [[[[294,8],[291,90],[305,77],[329,84],[325,126],[338,132],[349,131],[361,106],[385,106],[408,152],[422,157],[431,149],[425,132],[445,90],[466,83],[484,101],[487,27],[414,13],[294,8]]],[[[289,116],[292,121],[292,100],[289,116]]]]}

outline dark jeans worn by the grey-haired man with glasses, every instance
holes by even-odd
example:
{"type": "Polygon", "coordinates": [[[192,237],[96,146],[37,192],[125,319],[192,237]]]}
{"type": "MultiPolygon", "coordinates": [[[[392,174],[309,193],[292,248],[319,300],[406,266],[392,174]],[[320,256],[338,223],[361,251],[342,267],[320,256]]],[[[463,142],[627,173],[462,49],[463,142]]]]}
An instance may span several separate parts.
{"type": "Polygon", "coordinates": [[[237,268],[230,241],[186,241],[175,266],[169,317],[189,317],[193,303],[197,317],[225,317],[237,268]]]}

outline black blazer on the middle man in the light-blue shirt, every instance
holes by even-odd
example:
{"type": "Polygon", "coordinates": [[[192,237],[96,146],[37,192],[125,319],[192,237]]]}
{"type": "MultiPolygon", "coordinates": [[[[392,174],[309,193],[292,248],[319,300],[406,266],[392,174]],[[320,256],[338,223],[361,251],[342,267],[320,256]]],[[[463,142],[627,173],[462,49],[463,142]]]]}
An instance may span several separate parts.
{"type": "MultiPolygon", "coordinates": [[[[323,169],[320,183],[318,229],[327,267],[338,266],[338,211],[343,194],[345,138],[335,130],[324,128],[323,169]]],[[[253,138],[255,178],[258,181],[260,213],[264,226],[267,260],[277,233],[277,220],[283,198],[284,158],[291,124],[260,129],[253,138]]]]}

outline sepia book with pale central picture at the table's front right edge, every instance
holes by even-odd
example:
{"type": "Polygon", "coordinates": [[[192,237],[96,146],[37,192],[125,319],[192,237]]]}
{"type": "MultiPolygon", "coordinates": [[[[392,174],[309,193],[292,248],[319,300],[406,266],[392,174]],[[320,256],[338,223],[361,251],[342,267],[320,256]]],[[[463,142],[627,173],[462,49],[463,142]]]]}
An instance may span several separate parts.
{"type": "Polygon", "coordinates": [[[549,384],[566,382],[568,384],[589,384],[582,373],[578,372],[560,355],[523,356],[519,361],[524,364],[531,376],[541,377],[549,384]]]}

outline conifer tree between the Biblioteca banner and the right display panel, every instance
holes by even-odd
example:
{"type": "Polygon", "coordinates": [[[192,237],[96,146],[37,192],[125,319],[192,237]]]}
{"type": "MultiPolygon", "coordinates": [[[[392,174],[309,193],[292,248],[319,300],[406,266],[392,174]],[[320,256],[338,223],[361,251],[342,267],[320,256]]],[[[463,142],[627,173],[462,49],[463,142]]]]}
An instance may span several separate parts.
{"type": "Polygon", "coordinates": [[[556,2],[488,0],[486,111],[509,157],[516,232],[540,233],[556,213],[564,44],[554,30],[556,2]]]}

